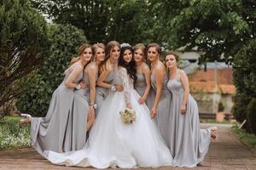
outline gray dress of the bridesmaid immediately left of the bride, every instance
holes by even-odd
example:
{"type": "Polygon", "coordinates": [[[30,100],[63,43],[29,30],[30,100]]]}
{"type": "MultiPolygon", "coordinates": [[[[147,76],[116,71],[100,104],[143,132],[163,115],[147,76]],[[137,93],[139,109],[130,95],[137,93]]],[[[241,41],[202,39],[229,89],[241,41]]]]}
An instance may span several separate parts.
{"type": "MultiPolygon", "coordinates": [[[[104,82],[113,84],[114,75],[115,75],[115,71],[109,71],[108,77],[105,79],[104,82]]],[[[100,111],[102,103],[107,98],[108,94],[110,94],[110,90],[108,88],[102,88],[102,87],[96,86],[96,105],[97,105],[96,115],[100,111]]]]}

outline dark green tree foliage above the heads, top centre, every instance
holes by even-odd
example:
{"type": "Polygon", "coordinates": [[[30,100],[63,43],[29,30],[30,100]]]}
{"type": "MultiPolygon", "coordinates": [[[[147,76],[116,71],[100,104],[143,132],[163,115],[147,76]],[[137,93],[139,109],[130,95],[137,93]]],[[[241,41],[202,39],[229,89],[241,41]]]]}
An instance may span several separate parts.
{"type": "Polygon", "coordinates": [[[55,23],[71,24],[84,31],[90,42],[150,42],[153,6],[146,0],[32,0],[55,23]],[[148,29],[149,28],[149,29],[148,29]]]}

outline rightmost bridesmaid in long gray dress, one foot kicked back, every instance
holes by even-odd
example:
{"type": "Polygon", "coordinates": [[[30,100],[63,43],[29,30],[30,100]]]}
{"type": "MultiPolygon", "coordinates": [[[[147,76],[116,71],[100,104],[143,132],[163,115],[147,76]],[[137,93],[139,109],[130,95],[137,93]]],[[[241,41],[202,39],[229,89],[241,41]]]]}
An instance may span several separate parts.
{"type": "Polygon", "coordinates": [[[196,167],[203,161],[217,127],[200,129],[198,108],[189,94],[189,80],[184,71],[177,69],[177,54],[167,52],[165,60],[170,71],[167,88],[172,92],[168,147],[178,167],[196,167]]]}

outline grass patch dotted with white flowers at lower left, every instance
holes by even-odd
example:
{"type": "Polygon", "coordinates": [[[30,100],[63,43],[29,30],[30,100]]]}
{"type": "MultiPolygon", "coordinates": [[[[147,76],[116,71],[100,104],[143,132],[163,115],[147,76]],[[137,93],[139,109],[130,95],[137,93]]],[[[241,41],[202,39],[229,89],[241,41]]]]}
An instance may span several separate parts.
{"type": "Polygon", "coordinates": [[[5,116],[0,122],[0,150],[28,147],[29,125],[19,127],[20,116],[5,116]]]}

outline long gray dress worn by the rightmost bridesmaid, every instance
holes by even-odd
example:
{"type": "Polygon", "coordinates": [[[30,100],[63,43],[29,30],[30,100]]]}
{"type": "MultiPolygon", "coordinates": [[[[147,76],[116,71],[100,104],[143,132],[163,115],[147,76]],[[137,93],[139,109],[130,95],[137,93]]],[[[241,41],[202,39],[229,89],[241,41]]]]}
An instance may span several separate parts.
{"type": "Polygon", "coordinates": [[[181,114],[184,94],[182,82],[174,78],[168,81],[167,87],[172,92],[168,145],[174,158],[174,165],[195,167],[207,154],[211,143],[211,129],[200,129],[198,107],[190,94],[186,112],[181,114]]]}

